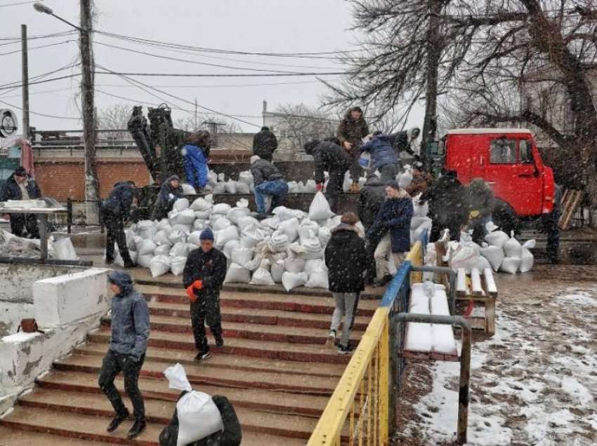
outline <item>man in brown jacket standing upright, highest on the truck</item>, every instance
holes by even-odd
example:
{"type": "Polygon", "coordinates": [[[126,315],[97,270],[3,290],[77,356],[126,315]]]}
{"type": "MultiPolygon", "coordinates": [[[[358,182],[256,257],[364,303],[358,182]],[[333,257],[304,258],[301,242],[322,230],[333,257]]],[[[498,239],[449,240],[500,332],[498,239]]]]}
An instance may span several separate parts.
{"type": "Polygon", "coordinates": [[[360,107],[353,107],[346,112],[344,119],[340,121],[336,135],[342,148],[350,154],[350,178],[353,180],[350,191],[358,192],[361,172],[359,165],[360,146],[362,139],[369,135],[369,127],[362,116],[360,107]]]}

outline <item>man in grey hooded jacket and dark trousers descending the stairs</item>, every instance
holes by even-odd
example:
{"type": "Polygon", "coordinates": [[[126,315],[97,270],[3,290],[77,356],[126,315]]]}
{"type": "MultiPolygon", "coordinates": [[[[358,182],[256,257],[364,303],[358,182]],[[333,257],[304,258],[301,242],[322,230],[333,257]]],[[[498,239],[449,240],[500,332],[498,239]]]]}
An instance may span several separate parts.
{"type": "Polygon", "coordinates": [[[129,431],[129,439],[145,430],[145,405],[139,391],[139,372],[145,360],[147,339],[150,334],[149,309],[145,297],[133,289],[133,279],[125,271],[112,271],[108,274],[112,286],[112,338],[104,357],[98,384],[105,393],[116,417],[112,419],[108,432],[114,432],[125,419],[129,418],[114,379],[124,374],[124,391],[133,403],[135,422],[129,431]]]}

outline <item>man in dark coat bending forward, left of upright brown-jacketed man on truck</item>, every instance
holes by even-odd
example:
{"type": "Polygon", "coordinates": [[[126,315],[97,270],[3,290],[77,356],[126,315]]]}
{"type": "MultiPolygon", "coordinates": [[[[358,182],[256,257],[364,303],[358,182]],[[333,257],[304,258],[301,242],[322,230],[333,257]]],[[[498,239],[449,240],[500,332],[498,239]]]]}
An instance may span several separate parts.
{"type": "Polygon", "coordinates": [[[313,156],[315,161],[315,184],[317,190],[322,190],[325,180],[324,170],[329,173],[329,182],[325,189],[325,198],[329,208],[336,212],[338,208],[338,195],[342,192],[344,173],[350,168],[352,162],[348,152],[338,144],[331,141],[313,140],[304,146],[305,153],[313,156]]]}

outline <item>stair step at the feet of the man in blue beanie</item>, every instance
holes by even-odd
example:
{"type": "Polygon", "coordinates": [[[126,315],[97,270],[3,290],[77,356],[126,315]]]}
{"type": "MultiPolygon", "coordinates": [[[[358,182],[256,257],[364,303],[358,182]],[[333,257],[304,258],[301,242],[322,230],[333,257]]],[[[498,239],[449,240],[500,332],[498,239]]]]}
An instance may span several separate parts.
{"type": "MultiPolygon", "coordinates": [[[[93,330],[88,334],[91,342],[110,342],[110,330],[93,330]]],[[[195,341],[191,334],[153,331],[147,345],[166,349],[195,351],[195,341]]],[[[323,345],[293,344],[289,342],[268,342],[254,339],[225,338],[223,347],[210,347],[212,354],[251,356],[310,363],[348,364],[349,356],[339,355],[335,350],[323,345]]]]}

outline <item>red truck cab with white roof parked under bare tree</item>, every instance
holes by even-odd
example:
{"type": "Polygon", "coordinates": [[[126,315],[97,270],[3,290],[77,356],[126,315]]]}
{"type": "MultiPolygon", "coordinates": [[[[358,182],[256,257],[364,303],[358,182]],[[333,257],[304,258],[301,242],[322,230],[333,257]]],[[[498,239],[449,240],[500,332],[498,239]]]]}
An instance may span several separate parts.
{"type": "Polygon", "coordinates": [[[444,167],[455,170],[462,184],[473,178],[490,184],[496,198],[494,220],[500,226],[511,227],[507,220],[535,219],[553,210],[553,171],[544,165],[530,130],[449,130],[444,156],[444,167]]]}

